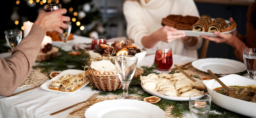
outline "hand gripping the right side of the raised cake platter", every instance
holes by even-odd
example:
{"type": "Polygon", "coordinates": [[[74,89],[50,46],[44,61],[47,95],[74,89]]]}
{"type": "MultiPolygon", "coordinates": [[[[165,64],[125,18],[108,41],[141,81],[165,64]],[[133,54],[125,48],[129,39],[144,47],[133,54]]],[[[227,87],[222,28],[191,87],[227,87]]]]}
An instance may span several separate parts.
{"type": "Polygon", "coordinates": [[[223,34],[220,31],[215,31],[214,35],[218,37],[210,37],[210,36],[204,36],[204,35],[201,35],[200,37],[210,41],[214,41],[216,43],[226,43],[228,39],[232,36],[231,33],[223,34]]]}

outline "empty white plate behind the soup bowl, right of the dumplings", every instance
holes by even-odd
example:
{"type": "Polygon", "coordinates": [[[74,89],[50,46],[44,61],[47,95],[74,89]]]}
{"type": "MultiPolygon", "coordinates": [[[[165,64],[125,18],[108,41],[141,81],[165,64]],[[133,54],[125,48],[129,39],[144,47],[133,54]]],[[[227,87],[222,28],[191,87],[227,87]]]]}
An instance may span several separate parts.
{"type": "Polygon", "coordinates": [[[204,72],[207,72],[209,69],[214,74],[233,74],[245,71],[244,63],[224,58],[198,59],[193,61],[191,65],[204,72]]]}

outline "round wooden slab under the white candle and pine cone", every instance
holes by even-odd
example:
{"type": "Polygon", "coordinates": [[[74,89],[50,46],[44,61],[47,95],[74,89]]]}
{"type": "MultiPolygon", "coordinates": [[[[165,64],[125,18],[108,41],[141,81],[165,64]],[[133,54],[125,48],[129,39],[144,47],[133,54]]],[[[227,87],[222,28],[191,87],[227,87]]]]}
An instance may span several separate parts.
{"type": "Polygon", "coordinates": [[[38,53],[37,57],[36,57],[36,61],[45,61],[45,60],[49,60],[52,59],[56,56],[58,56],[59,53],[59,49],[56,47],[53,47],[53,49],[51,51],[48,51],[47,53],[43,53],[41,50],[38,53]]]}

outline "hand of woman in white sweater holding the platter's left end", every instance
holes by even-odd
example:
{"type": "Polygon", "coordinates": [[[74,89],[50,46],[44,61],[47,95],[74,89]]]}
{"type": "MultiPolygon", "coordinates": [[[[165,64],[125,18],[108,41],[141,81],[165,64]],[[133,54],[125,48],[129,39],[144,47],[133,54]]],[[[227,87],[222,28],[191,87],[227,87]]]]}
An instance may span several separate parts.
{"type": "Polygon", "coordinates": [[[155,38],[159,41],[163,41],[166,43],[171,42],[172,40],[185,37],[185,32],[177,31],[177,29],[169,26],[164,26],[159,30],[153,32],[155,38]]]}

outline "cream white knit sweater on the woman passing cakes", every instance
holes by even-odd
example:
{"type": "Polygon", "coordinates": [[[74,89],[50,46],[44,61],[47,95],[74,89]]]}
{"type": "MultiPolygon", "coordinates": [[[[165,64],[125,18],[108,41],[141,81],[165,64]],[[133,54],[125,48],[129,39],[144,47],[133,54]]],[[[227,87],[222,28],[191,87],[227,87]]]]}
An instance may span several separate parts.
{"type": "MultiPolygon", "coordinates": [[[[150,0],[148,3],[145,3],[145,0],[128,0],[124,2],[123,13],[127,22],[128,38],[133,39],[139,46],[142,46],[142,37],[160,29],[162,18],[169,14],[199,17],[193,0],[150,0]]],[[[182,39],[177,39],[170,43],[160,41],[155,47],[146,50],[147,53],[155,53],[157,46],[168,45],[171,46],[173,54],[198,58],[197,49],[202,46],[202,38],[198,39],[198,43],[193,47],[187,47],[182,39]]]]}

